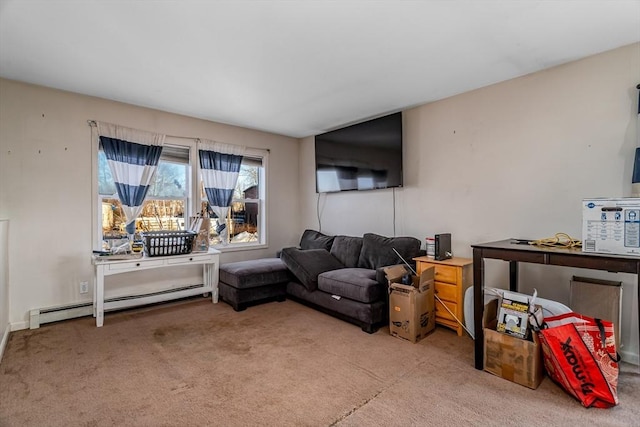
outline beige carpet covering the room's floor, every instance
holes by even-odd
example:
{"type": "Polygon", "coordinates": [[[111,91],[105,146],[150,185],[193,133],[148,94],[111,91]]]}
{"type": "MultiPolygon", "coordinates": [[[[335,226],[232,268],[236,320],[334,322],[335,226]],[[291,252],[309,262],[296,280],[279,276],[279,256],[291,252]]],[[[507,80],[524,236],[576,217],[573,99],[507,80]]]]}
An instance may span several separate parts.
{"type": "Polygon", "coordinates": [[[640,374],[620,404],[585,409],[473,367],[446,328],[417,344],[293,301],[234,312],[204,298],[11,333],[0,363],[2,426],[630,426],[640,374]]]}

